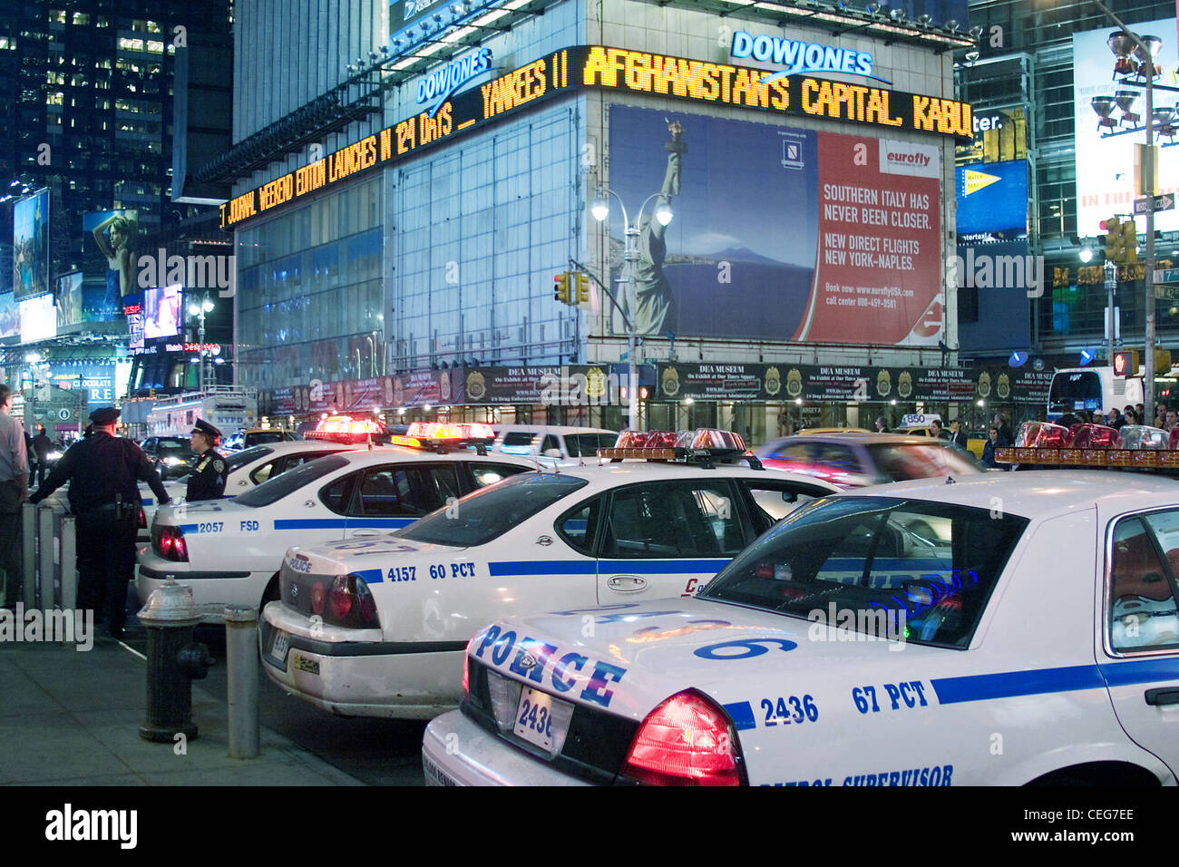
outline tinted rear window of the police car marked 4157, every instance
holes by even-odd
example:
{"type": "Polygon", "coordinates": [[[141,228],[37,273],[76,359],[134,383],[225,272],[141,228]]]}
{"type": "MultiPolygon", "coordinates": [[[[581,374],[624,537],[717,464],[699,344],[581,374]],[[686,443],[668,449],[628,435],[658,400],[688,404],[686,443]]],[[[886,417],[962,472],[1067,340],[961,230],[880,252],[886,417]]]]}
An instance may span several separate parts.
{"type": "Polygon", "coordinates": [[[522,473],[463,497],[394,533],[437,545],[485,545],[590,482],[559,473],[522,473]]]}

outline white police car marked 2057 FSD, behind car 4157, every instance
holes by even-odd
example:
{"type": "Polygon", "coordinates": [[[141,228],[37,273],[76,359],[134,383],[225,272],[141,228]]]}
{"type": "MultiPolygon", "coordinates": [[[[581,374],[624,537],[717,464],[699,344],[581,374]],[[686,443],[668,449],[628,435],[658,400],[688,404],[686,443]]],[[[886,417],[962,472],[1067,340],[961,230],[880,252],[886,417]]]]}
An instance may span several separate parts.
{"type": "MultiPolygon", "coordinates": [[[[432,451],[444,448],[443,442],[490,442],[486,426],[421,426],[417,435],[399,440],[400,446],[338,452],[284,469],[233,499],[158,510],[151,544],[138,552],[139,599],[146,602],[174,578],[192,586],[205,619],[218,622],[225,605],[261,607],[277,598],[278,567],[292,544],[387,533],[479,487],[535,468],[509,455],[432,451]]],[[[278,445],[265,448],[278,452],[278,445]]],[[[250,478],[245,467],[238,472],[250,478]]],[[[230,479],[229,490],[238,490],[230,479]]]]}

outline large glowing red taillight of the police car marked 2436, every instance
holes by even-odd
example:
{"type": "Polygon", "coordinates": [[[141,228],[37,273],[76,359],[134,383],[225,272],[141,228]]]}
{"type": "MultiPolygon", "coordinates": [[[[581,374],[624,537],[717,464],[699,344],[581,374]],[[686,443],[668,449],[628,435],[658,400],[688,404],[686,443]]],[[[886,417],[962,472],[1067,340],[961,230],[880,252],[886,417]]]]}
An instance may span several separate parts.
{"type": "Polygon", "coordinates": [[[684,690],[639,725],[621,775],[648,786],[740,786],[736,733],[720,708],[684,690]]]}

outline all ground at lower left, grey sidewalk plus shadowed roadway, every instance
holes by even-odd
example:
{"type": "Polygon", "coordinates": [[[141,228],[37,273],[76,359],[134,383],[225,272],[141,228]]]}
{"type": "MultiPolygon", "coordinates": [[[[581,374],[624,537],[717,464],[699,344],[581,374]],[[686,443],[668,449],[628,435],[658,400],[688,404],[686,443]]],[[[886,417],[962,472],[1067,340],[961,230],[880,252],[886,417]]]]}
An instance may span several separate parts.
{"type": "Polygon", "coordinates": [[[88,651],[0,641],[0,784],[422,784],[424,723],[335,717],[261,671],[261,755],[230,758],[224,631],[198,628],[196,638],[216,663],[192,685],[198,735],[183,748],[139,736],[146,631],[133,617],[124,642],[98,639],[88,651]]]}

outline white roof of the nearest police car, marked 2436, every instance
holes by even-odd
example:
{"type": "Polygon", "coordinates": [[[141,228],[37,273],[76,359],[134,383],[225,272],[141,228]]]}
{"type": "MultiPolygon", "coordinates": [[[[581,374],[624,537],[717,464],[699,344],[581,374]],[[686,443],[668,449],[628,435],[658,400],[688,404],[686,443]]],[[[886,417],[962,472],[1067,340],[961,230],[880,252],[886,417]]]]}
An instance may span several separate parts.
{"type": "Polygon", "coordinates": [[[1148,473],[1108,469],[1032,469],[989,472],[876,485],[849,492],[854,497],[909,497],[977,508],[996,508],[1026,518],[1050,518],[1101,503],[1114,510],[1137,511],[1147,506],[1174,505],[1179,480],[1148,473]]]}

